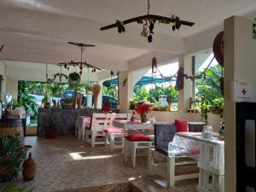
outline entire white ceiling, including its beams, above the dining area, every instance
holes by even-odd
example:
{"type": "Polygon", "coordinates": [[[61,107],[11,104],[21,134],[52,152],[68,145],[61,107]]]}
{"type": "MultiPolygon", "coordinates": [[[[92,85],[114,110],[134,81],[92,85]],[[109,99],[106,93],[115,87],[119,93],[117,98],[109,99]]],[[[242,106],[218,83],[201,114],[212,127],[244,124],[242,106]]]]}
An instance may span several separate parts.
{"type": "Polygon", "coordinates": [[[0,59],[43,63],[79,60],[79,48],[67,44],[78,41],[96,44],[86,50],[84,60],[97,67],[127,70],[132,68],[127,63],[140,65],[134,60],[148,53],[182,54],[189,37],[218,26],[231,15],[248,15],[255,10],[255,0],[151,0],[152,14],[174,14],[196,24],[182,26],[178,32],[172,32],[171,26],[155,26],[154,42],[148,44],[139,35],[140,25],[127,26],[121,35],[116,29],[99,30],[116,19],[146,14],[147,0],[1,0],[0,44],[5,48],[0,59]]]}

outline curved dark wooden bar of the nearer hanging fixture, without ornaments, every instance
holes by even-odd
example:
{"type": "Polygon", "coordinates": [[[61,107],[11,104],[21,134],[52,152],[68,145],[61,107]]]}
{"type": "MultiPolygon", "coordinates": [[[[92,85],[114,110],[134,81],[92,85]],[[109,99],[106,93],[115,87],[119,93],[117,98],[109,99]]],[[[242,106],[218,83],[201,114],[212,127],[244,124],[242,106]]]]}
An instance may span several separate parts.
{"type": "MultiPolygon", "coordinates": [[[[160,15],[142,15],[142,16],[131,18],[129,20],[123,20],[122,22],[123,22],[123,25],[126,25],[126,24],[129,24],[132,22],[137,22],[137,20],[144,20],[144,19],[167,20],[167,21],[171,21],[172,23],[175,22],[175,19],[172,17],[165,17],[165,16],[160,16],[160,15]]],[[[186,21],[186,20],[180,20],[180,23],[184,26],[194,26],[195,25],[195,23],[186,21]]],[[[102,26],[101,30],[104,31],[104,30],[108,30],[108,29],[111,29],[114,27],[117,27],[116,23],[113,23],[108,26],[102,26]]]]}

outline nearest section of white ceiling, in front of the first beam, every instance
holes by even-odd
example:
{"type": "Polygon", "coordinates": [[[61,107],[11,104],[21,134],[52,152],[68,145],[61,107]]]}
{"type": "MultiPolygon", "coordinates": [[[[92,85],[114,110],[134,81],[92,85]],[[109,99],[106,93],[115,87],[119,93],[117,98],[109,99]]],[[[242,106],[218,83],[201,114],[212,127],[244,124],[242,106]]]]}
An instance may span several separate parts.
{"type": "MultiPolygon", "coordinates": [[[[184,26],[177,36],[188,37],[218,24],[231,15],[245,15],[256,9],[255,0],[151,0],[150,13],[177,15],[196,23],[184,26]]],[[[2,6],[69,15],[89,20],[113,23],[147,13],[147,0],[2,0],[2,6]]],[[[157,32],[172,33],[170,26],[160,26],[157,32]]]]}

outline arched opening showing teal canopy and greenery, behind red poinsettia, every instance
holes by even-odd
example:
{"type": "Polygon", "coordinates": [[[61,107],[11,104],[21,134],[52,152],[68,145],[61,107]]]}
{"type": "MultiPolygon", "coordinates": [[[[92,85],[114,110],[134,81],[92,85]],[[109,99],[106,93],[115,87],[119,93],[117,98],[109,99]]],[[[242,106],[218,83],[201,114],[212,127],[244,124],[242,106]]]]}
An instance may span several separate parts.
{"type": "Polygon", "coordinates": [[[175,90],[176,79],[168,80],[163,76],[167,77],[177,73],[178,62],[168,63],[158,68],[159,71],[154,75],[152,75],[151,69],[148,70],[143,75],[143,78],[135,84],[131,109],[135,108],[137,102],[148,101],[154,103],[154,110],[177,111],[178,91],[175,90]]]}

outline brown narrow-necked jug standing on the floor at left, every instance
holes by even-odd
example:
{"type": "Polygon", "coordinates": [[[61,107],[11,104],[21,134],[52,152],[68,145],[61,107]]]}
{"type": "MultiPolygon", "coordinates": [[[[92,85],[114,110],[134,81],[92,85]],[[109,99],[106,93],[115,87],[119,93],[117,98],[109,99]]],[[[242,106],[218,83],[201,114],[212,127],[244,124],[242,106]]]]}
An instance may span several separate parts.
{"type": "Polygon", "coordinates": [[[31,181],[36,175],[36,164],[29,153],[28,158],[22,164],[22,175],[25,181],[31,181]]]}

